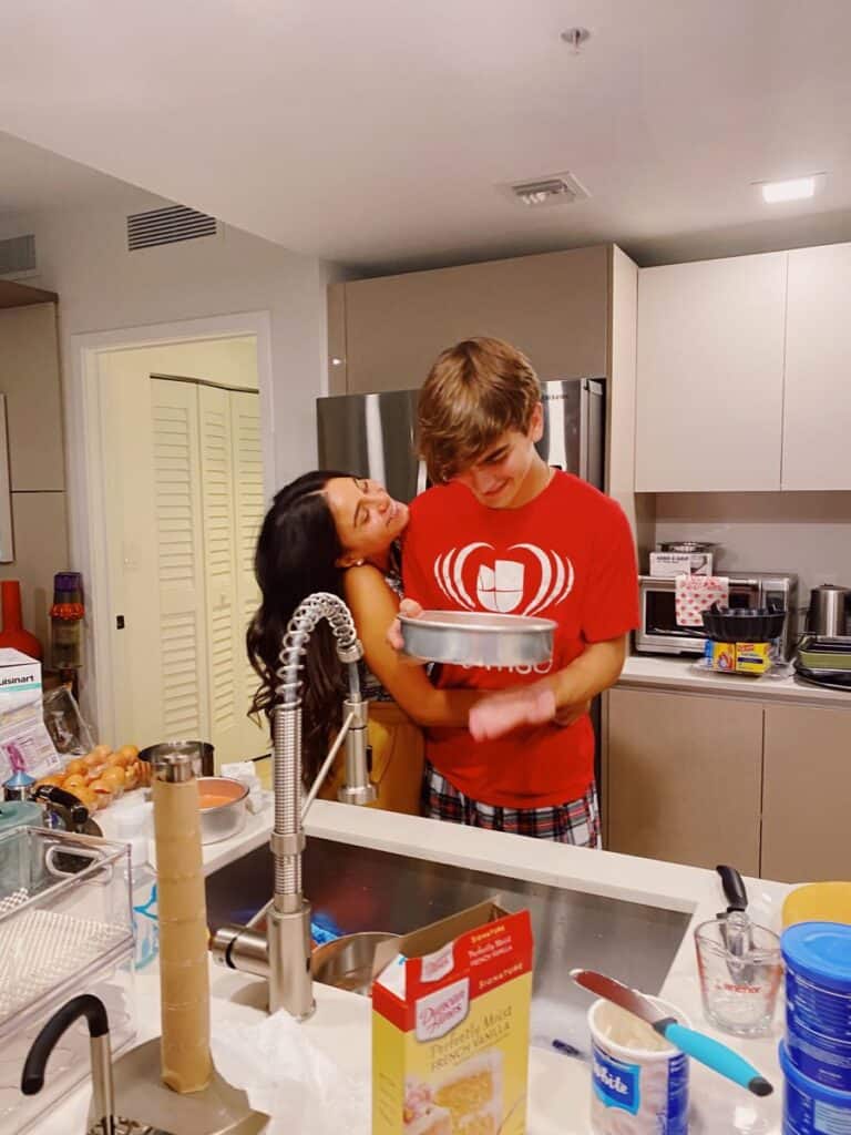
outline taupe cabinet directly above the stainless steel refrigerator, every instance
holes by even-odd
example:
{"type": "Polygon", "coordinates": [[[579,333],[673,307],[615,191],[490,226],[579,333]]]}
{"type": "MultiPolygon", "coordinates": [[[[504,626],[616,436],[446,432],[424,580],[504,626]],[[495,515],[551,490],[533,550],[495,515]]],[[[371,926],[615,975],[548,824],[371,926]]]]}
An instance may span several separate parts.
{"type": "Polygon", "coordinates": [[[440,351],[475,335],[513,343],[544,380],[605,376],[610,253],[599,245],[332,285],[329,390],[418,387],[440,351]]]}

